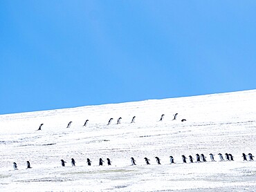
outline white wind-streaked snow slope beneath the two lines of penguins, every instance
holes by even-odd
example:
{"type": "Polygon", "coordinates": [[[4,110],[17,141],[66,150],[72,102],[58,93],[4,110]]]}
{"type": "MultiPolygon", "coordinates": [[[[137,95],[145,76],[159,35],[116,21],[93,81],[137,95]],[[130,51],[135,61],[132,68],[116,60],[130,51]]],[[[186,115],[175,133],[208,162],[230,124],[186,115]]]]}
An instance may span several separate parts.
{"type": "Polygon", "coordinates": [[[0,115],[0,191],[256,191],[255,141],[256,90],[0,115]]]}

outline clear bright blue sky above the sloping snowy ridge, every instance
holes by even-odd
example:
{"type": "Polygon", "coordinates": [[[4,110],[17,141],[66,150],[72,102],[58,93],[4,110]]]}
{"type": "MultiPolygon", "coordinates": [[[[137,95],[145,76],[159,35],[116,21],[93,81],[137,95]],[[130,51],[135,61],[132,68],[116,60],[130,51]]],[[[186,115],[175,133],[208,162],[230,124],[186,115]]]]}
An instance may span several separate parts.
{"type": "Polygon", "coordinates": [[[0,1],[0,114],[256,88],[256,1],[0,1]]]}

